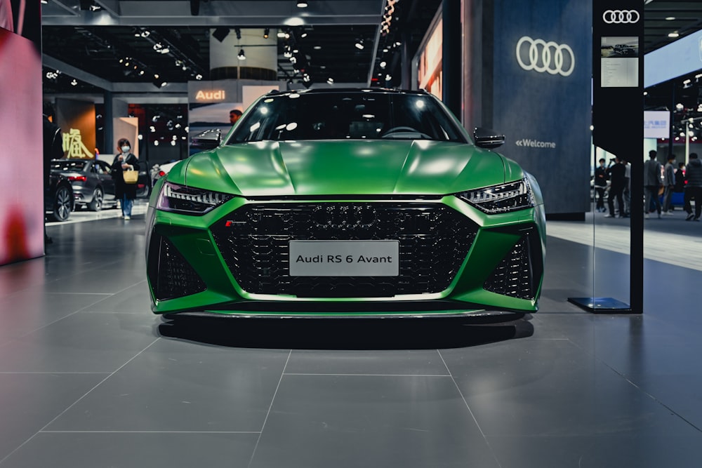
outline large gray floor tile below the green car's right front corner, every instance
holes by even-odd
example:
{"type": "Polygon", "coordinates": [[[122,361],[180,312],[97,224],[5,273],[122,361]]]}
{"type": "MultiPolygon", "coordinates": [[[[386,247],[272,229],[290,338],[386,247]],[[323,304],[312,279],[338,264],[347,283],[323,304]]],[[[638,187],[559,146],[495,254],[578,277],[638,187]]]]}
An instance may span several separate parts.
{"type": "Polygon", "coordinates": [[[443,351],[487,436],[665,434],[678,415],[568,340],[519,340],[443,351]]]}

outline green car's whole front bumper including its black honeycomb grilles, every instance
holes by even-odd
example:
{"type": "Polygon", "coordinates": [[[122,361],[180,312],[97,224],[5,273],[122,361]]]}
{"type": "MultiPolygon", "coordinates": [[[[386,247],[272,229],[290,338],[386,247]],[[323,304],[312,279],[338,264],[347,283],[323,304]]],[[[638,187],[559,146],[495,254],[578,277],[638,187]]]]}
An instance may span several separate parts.
{"type": "Polygon", "coordinates": [[[454,196],[237,198],[199,217],[150,207],[147,277],[152,310],[232,316],[536,312],[545,250],[542,208],[485,215],[454,196]],[[336,229],[327,226],[335,222],[317,219],[320,206],[333,207],[329,210],[336,216],[336,229]],[[341,218],[340,206],[350,207],[341,218]],[[369,210],[380,213],[372,227],[353,220],[353,213],[366,213],[367,218],[369,210]],[[388,213],[392,220],[387,220],[388,213]],[[300,239],[401,239],[399,276],[291,277],[287,243],[300,239]]]}

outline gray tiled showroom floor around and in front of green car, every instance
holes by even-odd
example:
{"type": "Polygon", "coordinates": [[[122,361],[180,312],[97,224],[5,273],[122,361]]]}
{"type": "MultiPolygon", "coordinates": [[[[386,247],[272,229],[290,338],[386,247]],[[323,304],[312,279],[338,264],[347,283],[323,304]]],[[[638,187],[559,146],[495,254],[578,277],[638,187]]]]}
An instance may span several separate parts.
{"type": "Polygon", "coordinates": [[[567,297],[628,258],[592,279],[553,236],[530,320],[171,323],[144,229],[51,225],[0,267],[0,468],[702,466],[698,270],[647,260],[644,314],[590,314],[567,297]]]}

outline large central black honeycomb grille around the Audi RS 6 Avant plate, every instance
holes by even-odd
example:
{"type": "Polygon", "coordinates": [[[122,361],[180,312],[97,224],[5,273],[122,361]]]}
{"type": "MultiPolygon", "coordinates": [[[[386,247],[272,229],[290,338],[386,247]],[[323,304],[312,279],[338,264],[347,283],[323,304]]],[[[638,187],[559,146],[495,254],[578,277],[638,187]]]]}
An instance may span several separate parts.
{"type": "Polygon", "coordinates": [[[441,203],[270,203],[242,206],[212,226],[239,286],[297,297],[392,297],[449,287],[477,225],[441,203]],[[399,241],[399,276],[290,276],[291,240],[399,241]]]}

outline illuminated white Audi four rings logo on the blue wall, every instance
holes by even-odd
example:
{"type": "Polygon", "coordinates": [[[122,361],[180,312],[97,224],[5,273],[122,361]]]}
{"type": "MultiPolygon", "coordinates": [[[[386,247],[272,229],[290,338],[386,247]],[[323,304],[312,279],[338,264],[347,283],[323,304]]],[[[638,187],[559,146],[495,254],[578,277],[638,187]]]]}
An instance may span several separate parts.
{"type": "Polygon", "coordinates": [[[525,70],[568,76],[575,68],[575,55],[567,44],[523,36],[517,41],[517,62],[525,70]]]}

